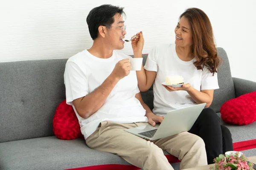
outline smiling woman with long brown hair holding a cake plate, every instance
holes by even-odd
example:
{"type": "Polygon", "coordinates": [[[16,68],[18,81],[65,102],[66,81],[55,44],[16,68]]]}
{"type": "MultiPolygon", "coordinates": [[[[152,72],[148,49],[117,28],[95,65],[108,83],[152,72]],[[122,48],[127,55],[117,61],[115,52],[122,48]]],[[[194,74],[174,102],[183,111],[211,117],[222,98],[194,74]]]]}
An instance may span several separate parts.
{"type": "MultiPolygon", "coordinates": [[[[230,131],[220,124],[217,114],[208,108],[218,89],[217,69],[220,63],[213,40],[212,26],[207,15],[198,8],[189,8],[180,15],[175,28],[175,44],[158,45],[148,54],[144,68],[137,71],[140,91],[147,91],[154,82],[153,113],[164,116],[168,111],[207,103],[192,126],[190,133],[205,143],[208,164],[219,154],[233,150],[230,131]],[[162,85],[166,76],[182,76],[186,84],[180,88],[162,85]]],[[[132,41],[144,40],[142,32],[132,41]]],[[[143,42],[144,43],[144,42],[143,42]]],[[[140,46],[140,45],[139,45],[140,46]]],[[[143,44],[142,44],[143,46],[143,44]]],[[[141,57],[136,55],[134,57],[141,57]]]]}

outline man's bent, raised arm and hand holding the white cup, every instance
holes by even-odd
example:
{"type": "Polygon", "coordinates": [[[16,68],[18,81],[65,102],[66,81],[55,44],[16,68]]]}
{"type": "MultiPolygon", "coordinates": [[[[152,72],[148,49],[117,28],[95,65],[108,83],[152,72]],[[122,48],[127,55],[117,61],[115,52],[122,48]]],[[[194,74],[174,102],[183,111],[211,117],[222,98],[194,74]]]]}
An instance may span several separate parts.
{"type": "Polygon", "coordinates": [[[90,94],[73,100],[77,113],[87,119],[98,111],[120,79],[130,74],[131,65],[129,59],[123,59],[116,63],[115,68],[107,79],[90,94]]]}

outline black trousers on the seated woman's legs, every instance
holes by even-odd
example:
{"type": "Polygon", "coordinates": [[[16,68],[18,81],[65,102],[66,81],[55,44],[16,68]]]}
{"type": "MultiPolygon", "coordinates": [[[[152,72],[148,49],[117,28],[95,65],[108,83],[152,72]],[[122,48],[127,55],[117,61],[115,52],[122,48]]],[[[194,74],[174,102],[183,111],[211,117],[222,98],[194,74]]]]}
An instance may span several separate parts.
{"type": "Polygon", "coordinates": [[[233,150],[230,130],[220,124],[218,115],[210,108],[203,109],[189,133],[204,140],[208,164],[212,164],[219,154],[233,150]]]}

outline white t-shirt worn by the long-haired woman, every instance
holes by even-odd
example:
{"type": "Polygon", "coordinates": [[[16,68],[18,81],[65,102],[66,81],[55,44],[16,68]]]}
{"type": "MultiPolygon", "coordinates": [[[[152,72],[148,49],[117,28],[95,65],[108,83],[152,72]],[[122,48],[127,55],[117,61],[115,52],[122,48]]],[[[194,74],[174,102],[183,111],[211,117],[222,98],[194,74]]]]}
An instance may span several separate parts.
{"type": "Polygon", "coordinates": [[[190,83],[198,91],[218,89],[217,74],[206,67],[197,70],[193,62],[181,60],[176,53],[175,44],[161,44],[154,47],[148,54],[145,70],[156,71],[157,76],[153,84],[154,109],[153,113],[164,116],[172,110],[196,105],[196,102],[186,91],[169,92],[162,86],[166,76],[182,76],[184,83],[190,83]]]}

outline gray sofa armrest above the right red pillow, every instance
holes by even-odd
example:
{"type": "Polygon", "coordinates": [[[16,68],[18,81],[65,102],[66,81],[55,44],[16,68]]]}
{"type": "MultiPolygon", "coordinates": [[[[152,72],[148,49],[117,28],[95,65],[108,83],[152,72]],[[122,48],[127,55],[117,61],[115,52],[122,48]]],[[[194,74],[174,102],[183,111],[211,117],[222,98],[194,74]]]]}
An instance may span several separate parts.
{"type": "Polygon", "coordinates": [[[256,82],[236,77],[232,77],[232,79],[235,86],[236,97],[256,91],[256,82]]]}

